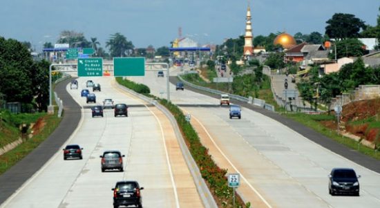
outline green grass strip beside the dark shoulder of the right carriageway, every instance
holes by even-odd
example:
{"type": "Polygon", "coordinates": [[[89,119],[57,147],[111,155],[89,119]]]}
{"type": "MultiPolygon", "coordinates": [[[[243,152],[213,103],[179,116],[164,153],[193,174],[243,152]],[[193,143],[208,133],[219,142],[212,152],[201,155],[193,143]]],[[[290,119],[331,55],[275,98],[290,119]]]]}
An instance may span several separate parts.
{"type": "Polygon", "coordinates": [[[340,144],[348,146],[350,149],[357,150],[360,153],[380,160],[380,153],[377,153],[377,151],[374,151],[374,149],[363,146],[359,142],[352,140],[351,138],[347,138],[332,129],[328,129],[326,126],[323,126],[323,124],[319,123],[321,120],[335,119],[333,115],[307,115],[303,113],[284,113],[283,115],[291,118],[292,120],[295,120],[296,122],[304,124],[310,129],[314,129],[314,131],[325,135],[327,138],[331,138],[340,144]]]}

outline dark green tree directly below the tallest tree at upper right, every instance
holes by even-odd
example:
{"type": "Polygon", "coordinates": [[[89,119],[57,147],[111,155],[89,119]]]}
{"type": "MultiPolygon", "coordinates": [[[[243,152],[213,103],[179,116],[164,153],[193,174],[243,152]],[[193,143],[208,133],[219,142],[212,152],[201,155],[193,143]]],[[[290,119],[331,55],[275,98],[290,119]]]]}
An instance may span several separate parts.
{"type": "MultiPolygon", "coordinates": [[[[336,58],[341,57],[360,57],[364,55],[363,43],[358,39],[343,39],[341,41],[336,41],[336,58]]],[[[335,50],[332,47],[332,50],[335,50]]],[[[330,58],[334,58],[334,53],[330,53],[330,58]]]]}

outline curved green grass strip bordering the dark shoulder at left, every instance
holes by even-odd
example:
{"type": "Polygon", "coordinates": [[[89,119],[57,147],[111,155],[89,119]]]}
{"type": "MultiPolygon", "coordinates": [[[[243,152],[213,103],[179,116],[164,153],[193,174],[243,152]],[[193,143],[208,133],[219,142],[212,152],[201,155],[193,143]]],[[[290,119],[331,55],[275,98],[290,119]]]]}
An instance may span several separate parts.
{"type": "Polygon", "coordinates": [[[53,131],[61,122],[61,118],[57,117],[58,109],[55,109],[54,115],[48,115],[47,113],[36,113],[35,115],[26,115],[26,120],[35,120],[37,116],[44,117],[46,125],[44,129],[32,138],[26,140],[15,149],[0,155],[0,175],[6,172],[10,167],[15,165],[21,159],[25,158],[31,151],[33,151],[41,142],[44,142],[48,136],[53,133],[53,131]]]}

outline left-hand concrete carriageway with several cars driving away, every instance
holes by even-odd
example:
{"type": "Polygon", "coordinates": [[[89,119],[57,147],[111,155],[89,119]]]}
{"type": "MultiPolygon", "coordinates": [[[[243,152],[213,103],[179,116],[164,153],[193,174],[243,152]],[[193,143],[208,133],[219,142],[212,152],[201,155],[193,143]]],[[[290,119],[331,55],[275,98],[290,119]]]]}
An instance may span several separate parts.
{"type": "Polygon", "coordinates": [[[82,120],[65,145],[82,146],[83,160],[63,160],[63,152],[57,151],[0,207],[112,207],[111,188],[119,180],[137,180],[144,187],[143,207],[203,207],[167,117],[122,91],[113,77],[91,77],[102,86],[95,92],[97,104],[112,98],[129,106],[129,117],[114,117],[112,109],[104,117],[92,117],[94,104],[80,97],[86,79],[78,79],[78,89],[66,86],[82,106],[82,120]],[[124,172],[102,173],[99,155],[106,150],[126,155],[124,172]]]}

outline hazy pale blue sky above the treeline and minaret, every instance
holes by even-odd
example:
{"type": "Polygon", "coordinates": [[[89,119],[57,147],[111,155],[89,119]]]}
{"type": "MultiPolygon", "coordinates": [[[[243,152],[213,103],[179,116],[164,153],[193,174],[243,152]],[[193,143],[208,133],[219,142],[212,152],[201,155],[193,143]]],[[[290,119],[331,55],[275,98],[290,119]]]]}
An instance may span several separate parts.
{"type": "Polygon", "coordinates": [[[97,37],[101,47],[120,32],[137,48],[170,46],[182,37],[222,44],[244,34],[248,3],[254,36],[271,32],[325,33],[334,13],[376,26],[379,0],[1,0],[0,36],[30,41],[41,50],[62,30],[97,37]]]}

